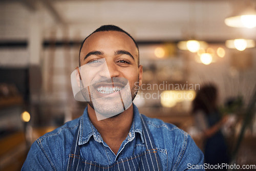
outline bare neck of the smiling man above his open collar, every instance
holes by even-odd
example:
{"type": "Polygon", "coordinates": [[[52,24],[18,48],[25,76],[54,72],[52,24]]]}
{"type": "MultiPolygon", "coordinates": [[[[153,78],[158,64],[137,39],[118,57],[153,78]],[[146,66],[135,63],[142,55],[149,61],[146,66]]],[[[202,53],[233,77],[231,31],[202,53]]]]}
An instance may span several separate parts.
{"type": "Polygon", "coordinates": [[[127,137],[133,122],[133,105],[117,116],[97,120],[94,109],[88,105],[88,116],[102,139],[117,154],[121,143],[127,137]]]}

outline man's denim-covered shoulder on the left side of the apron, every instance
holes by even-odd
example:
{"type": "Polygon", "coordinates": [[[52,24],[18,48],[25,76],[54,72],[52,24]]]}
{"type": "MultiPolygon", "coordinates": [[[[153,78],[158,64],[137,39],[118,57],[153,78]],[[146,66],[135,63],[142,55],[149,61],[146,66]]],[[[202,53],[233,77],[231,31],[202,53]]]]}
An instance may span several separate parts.
{"type": "Polygon", "coordinates": [[[63,170],[67,164],[73,137],[79,128],[80,118],[66,122],[52,132],[39,137],[31,146],[24,168],[42,167],[42,170],[63,170]],[[61,161],[61,162],[59,162],[61,161]],[[51,168],[51,169],[50,169],[51,168]]]}

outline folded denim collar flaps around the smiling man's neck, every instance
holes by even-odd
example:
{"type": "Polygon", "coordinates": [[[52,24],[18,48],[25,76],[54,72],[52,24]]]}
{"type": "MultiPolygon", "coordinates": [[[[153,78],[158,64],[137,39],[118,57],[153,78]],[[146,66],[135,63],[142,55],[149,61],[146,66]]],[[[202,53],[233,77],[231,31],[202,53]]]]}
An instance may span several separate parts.
{"type": "MultiPolygon", "coordinates": [[[[80,119],[80,133],[79,133],[78,145],[87,143],[92,136],[94,140],[97,142],[103,141],[99,132],[96,130],[91,120],[89,119],[87,109],[88,108],[86,107],[80,119]]],[[[133,114],[134,114],[133,123],[132,123],[129,134],[126,137],[126,140],[132,141],[135,138],[135,133],[139,133],[141,141],[142,143],[144,143],[144,139],[142,136],[142,123],[141,123],[140,113],[135,104],[133,104],[133,114]]]]}

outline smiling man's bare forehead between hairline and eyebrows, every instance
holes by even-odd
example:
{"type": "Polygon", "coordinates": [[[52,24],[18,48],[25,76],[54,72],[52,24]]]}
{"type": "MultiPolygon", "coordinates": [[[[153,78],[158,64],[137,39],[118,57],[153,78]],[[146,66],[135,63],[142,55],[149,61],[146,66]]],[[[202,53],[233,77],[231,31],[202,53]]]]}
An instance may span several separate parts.
{"type": "Polygon", "coordinates": [[[127,50],[133,55],[138,56],[138,50],[133,39],[119,31],[101,31],[93,33],[84,41],[81,55],[96,50],[127,50]]]}

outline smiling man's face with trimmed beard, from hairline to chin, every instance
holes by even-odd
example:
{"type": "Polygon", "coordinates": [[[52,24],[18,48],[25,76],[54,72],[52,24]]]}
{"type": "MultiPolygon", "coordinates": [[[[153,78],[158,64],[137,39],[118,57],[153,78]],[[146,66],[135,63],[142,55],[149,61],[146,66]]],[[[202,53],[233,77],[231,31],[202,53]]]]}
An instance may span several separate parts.
{"type": "MultiPolygon", "coordinates": [[[[133,40],[125,33],[117,31],[93,33],[83,44],[80,63],[81,66],[89,66],[85,71],[82,71],[81,67],[81,79],[83,84],[86,80],[87,85],[92,85],[90,96],[93,98],[93,103],[89,102],[89,104],[94,109],[95,105],[100,106],[99,113],[104,111],[121,113],[123,106],[117,106],[120,104],[120,97],[124,103],[125,100],[132,101],[135,98],[142,83],[142,66],[138,66],[138,50],[133,40]],[[124,89],[125,85],[126,88],[128,85],[130,94],[124,89]]],[[[88,91],[83,94],[85,98],[89,97],[88,91]]]]}

